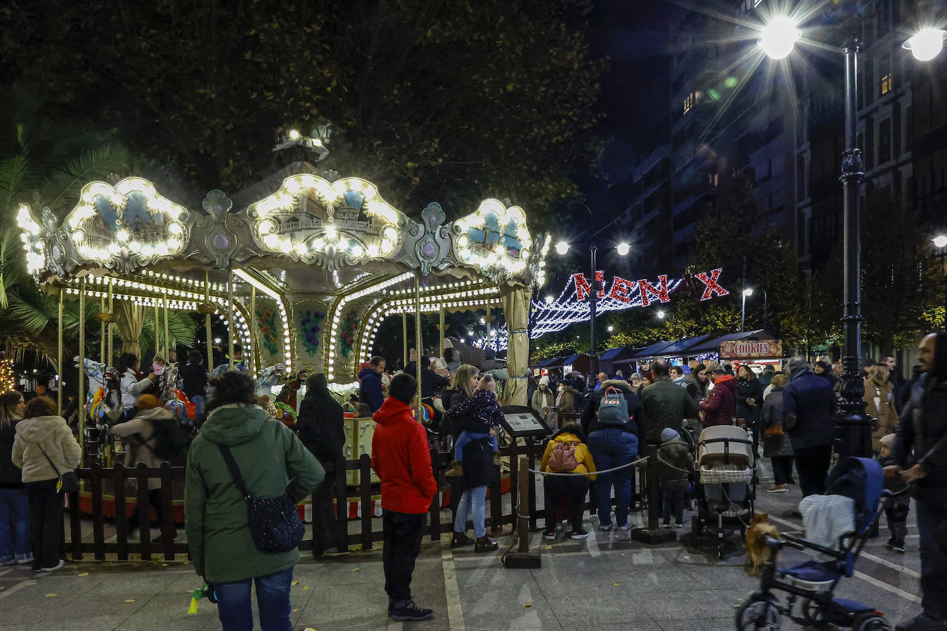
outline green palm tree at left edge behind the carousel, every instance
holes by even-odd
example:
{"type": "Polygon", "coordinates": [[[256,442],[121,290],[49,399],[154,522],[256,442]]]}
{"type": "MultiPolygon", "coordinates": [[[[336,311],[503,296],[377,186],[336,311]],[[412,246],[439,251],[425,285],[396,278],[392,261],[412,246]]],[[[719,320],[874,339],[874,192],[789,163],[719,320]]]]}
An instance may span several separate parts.
{"type": "MultiPolygon", "coordinates": [[[[132,152],[114,142],[112,132],[54,121],[44,115],[42,99],[29,89],[0,86],[0,336],[6,341],[8,357],[18,349],[31,348],[54,365],[58,359],[58,300],[45,294],[26,272],[16,223],[19,204],[26,202],[34,209],[47,206],[62,220],[79,201],[84,184],[129,174],[134,163],[132,152]]],[[[96,313],[97,304],[86,305],[90,348],[99,331],[96,313]]],[[[170,337],[190,342],[195,326],[188,314],[173,313],[170,337]]],[[[63,305],[63,357],[75,355],[79,329],[79,308],[67,302],[63,305]]],[[[152,315],[142,342],[153,341],[152,315]]]]}

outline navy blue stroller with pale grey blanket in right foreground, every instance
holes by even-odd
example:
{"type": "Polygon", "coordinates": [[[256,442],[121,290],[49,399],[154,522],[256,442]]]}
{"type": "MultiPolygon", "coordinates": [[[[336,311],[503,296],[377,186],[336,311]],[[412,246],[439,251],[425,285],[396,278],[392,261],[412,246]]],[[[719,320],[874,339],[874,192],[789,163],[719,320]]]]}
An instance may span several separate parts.
{"type": "MultiPolygon", "coordinates": [[[[759,590],[753,592],[737,609],[736,622],[740,631],[776,631],[780,628],[782,616],[804,626],[831,623],[855,631],[885,631],[892,628],[881,611],[858,601],[832,597],[839,580],[843,576],[852,575],[855,560],[865,546],[868,532],[883,510],[880,506],[883,482],[884,471],[881,464],[869,458],[843,458],[829,476],[825,495],[813,496],[827,502],[845,498],[854,500],[847,502],[853,511],[853,515],[847,517],[851,518],[855,530],[839,536],[838,550],[785,534],[781,535],[781,540],[766,537],[772,554],[770,560],[763,565],[759,590]],[[829,496],[834,497],[829,499],[829,496]],[[828,555],[829,560],[811,560],[788,568],[779,568],[777,554],[786,546],[796,550],[820,552],[828,555]],[[774,590],[789,593],[786,605],[779,603],[773,594],[774,590]],[[793,610],[796,598],[802,599],[798,613],[793,610]]],[[[888,491],[884,493],[894,496],[906,490],[897,494],[890,494],[888,491]]],[[[827,504],[827,508],[829,506],[831,510],[836,510],[834,504],[827,504]]]]}

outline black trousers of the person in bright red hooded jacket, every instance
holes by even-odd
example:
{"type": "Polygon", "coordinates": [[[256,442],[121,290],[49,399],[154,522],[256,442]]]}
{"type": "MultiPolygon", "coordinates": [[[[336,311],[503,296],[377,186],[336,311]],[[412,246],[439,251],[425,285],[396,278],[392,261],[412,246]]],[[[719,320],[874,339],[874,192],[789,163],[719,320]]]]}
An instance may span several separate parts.
{"type": "Polygon", "coordinates": [[[426,518],[427,513],[382,511],[384,591],[390,604],[411,598],[411,574],[420,553],[426,518]]]}

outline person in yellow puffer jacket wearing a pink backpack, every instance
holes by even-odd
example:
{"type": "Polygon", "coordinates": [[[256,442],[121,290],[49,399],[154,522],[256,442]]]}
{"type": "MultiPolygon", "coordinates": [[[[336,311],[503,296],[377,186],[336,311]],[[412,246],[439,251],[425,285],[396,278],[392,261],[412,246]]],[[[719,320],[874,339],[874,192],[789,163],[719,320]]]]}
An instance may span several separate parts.
{"type": "Polygon", "coordinates": [[[585,473],[584,476],[543,476],[545,494],[546,539],[556,538],[556,513],[564,498],[572,500],[572,531],[569,537],[583,539],[588,533],[582,528],[585,495],[589,482],[595,480],[595,462],[585,446],[585,432],[578,423],[568,423],[545,446],[540,471],[554,473],[585,473]]]}

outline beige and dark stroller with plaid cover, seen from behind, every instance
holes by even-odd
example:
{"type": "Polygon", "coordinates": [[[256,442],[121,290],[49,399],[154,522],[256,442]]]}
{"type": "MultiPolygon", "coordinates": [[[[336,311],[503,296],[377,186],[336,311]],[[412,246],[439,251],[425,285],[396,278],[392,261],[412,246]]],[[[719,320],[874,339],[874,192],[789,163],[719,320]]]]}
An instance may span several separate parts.
{"type": "Polygon", "coordinates": [[[716,531],[717,553],[724,556],[724,535],[740,530],[745,535],[756,500],[756,453],[746,430],[718,425],[701,432],[697,441],[697,511],[691,517],[690,545],[698,536],[716,531]]]}

